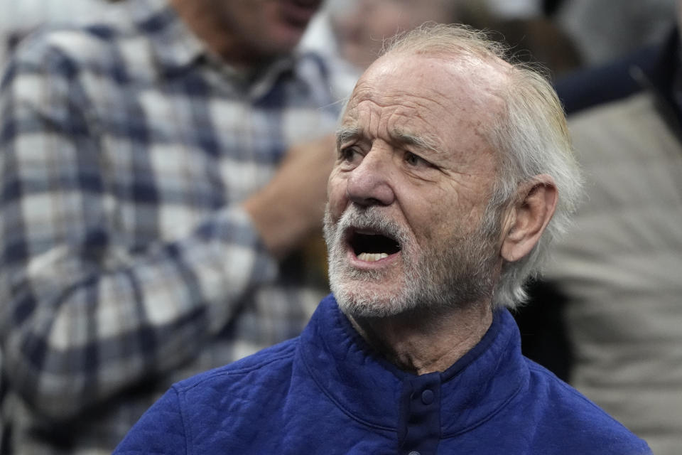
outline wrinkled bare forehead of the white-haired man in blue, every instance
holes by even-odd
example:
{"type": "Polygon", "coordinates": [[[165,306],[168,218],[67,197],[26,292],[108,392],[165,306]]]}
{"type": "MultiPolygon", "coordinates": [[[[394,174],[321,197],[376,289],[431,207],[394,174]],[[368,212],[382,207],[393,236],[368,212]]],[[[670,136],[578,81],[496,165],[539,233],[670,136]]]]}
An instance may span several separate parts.
{"type": "Polygon", "coordinates": [[[410,117],[453,127],[476,124],[482,129],[504,108],[508,76],[502,65],[480,58],[387,54],[360,77],[342,124],[379,122],[379,114],[410,117]]]}

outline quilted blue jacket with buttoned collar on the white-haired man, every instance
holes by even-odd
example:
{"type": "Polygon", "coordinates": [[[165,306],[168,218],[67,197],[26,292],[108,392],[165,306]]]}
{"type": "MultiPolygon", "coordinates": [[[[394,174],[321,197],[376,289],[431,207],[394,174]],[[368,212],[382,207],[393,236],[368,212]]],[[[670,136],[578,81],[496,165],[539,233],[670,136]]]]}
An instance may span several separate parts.
{"type": "Polygon", "coordinates": [[[416,376],[328,296],[300,337],[174,385],[115,454],[651,454],[519,345],[497,311],[455,365],[416,376]]]}

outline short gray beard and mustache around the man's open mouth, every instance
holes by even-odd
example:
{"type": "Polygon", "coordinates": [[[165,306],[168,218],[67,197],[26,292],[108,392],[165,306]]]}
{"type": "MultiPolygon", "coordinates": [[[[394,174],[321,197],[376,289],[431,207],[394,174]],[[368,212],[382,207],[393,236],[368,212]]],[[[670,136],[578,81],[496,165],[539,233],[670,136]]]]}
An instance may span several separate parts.
{"type": "Polygon", "coordinates": [[[492,299],[497,254],[495,236],[486,234],[484,225],[470,235],[453,234],[423,250],[405,228],[381,215],[375,206],[350,205],[336,224],[327,208],[324,231],[329,280],[340,309],[348,316],[371,318],[415,310],[440,313],[492,299]],[[344,248],[344,232],[350,227],[384,232],[400,243],[403,276],[398,289],[379,293],[363,286],[381,282],[386,272],[350,267],[344,248]]]}

